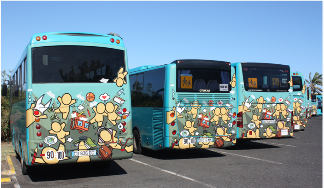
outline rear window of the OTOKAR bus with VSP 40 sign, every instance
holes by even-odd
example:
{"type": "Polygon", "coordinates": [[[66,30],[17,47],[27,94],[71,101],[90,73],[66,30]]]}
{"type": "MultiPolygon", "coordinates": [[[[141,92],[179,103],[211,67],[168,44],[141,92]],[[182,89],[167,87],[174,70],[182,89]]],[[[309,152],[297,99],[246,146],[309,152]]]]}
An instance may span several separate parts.
{"type": "Polygon", "coordinates": [[[231,72],[215,69],[178,69],[177,92],[229,93],[231,72]]]}

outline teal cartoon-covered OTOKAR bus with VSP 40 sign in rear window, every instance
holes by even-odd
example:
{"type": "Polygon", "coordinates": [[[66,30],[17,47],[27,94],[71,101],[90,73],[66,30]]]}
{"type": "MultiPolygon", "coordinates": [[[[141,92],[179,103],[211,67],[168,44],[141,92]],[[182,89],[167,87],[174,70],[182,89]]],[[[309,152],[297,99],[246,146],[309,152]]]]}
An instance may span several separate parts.
{"type": "Polygon", "coordinates": [[[229,62],[175,60],[130,69],[134,153],[236,143],[236,82],[229,62]]]}

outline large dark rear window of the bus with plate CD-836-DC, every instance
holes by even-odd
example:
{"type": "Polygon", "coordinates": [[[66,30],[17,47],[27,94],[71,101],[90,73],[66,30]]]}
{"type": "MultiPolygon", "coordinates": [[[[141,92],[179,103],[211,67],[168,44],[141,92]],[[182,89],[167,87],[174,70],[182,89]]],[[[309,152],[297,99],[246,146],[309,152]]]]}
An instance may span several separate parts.
{"type": "Polygon", "coordinates": [[[120,67],[125,67],[125,55],[118,49],[93,46],[32,49],[33,83],[113,82],[120,67]]]}

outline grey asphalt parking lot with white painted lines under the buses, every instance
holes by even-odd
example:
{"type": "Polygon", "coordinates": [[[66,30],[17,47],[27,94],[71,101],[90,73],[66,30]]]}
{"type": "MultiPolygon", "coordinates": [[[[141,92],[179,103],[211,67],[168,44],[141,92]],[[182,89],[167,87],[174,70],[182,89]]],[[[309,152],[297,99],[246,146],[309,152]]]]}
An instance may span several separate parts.
{"type": "MultiPolygon", "coordinates": [[[[322,187],[322,116],[308,119],[292,138],[249,141],[224,149],[172,150],[133,155],[104,164],[42,166],[1,187],[322,187]]],[[[3,175],[1,177],[4,177],[3,175]]]]}

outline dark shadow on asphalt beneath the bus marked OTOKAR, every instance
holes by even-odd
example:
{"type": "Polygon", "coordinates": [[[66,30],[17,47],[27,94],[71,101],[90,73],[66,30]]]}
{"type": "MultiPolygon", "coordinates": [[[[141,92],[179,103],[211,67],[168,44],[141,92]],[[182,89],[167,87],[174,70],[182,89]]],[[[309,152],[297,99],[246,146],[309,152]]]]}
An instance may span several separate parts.
{"type": "Polygon", "coordinates": [[[193,159],[209,157],[225,157],[223,154],[215,153],[207,149],[188,149],[188,150],[149,150],[142,148],[142,155],[162,160],[174,159],[193,159]]]}

